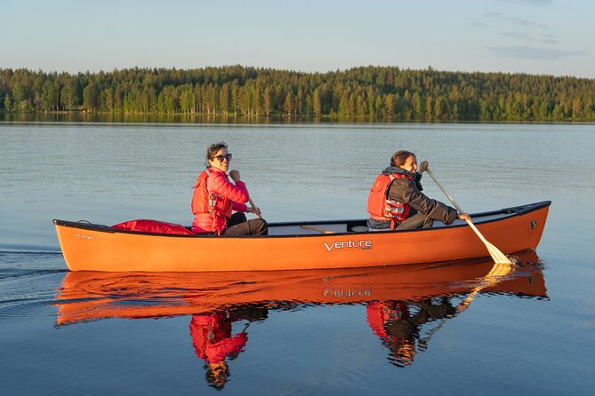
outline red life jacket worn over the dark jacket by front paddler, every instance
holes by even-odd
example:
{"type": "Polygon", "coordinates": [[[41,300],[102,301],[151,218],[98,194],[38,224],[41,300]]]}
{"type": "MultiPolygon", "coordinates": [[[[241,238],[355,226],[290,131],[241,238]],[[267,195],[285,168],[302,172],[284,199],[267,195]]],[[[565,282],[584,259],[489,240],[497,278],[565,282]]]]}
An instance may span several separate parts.
{"type": "Polygon", "coordinates": [[[401,222],[409,217],[409,205],[390,201],[387,199],[387,192],[390,184],[395,178],[413,178],[400,173],[392,173],[391,175],[378,175],[374,180],[370,194],[367,198],[367,211],[370,213],[370,218],[380,221],[390,221],[390,229],[394,229],[395,222],[401,222]]]}

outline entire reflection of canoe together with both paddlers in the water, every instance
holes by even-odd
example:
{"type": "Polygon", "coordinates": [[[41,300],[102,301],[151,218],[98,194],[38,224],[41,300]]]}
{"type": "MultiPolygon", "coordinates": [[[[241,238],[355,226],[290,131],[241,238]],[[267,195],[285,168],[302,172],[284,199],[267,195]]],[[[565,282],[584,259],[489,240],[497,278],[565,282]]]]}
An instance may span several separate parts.
{"type": "MultiPolygon", "coordinates": [[[[478,293],[547,297],[534,251],[488,260],[335,270],[221,273],[69,272],[56,295],[57,326],[106,318],[192,315],[189,334],[209,384],[229,379],[226,360],[245,349],[246,328],[271,310],[366,305],[367,325],[405,367],[478,293]],[[232,331],[232,324],[244,326],[232,331]]],[[[362,318],[364,320],[364,318],[362,318]]]]}

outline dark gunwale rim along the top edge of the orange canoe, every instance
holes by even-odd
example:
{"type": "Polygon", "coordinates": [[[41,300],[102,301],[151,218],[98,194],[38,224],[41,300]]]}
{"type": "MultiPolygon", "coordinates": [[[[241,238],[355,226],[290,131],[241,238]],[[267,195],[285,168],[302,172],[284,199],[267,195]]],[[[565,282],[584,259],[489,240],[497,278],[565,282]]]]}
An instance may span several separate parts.
{"type": "MultiPolygon", "coordinates": [[[[540,210],[545,207],[551,205],[551,201],[543,201],[543,202],[535,202],[529,203],[526,205],[519,205],[514,206],[511,208],[504,208],[501,210],[490,210],[486,212],[479,212],[479,213],[471,213],[470,216],[473,218],[474,223],[477,225],[480,224],[488,224],[498,221],[503,221],[507,218],[513,218],[516,216],[525,215],[527,213],[533,212],[535,210],[540,210]],[[502,215],[505,216],[500,218],[491,218],[486,220],[481,220],[480,218],[486,218],[490,216],[502,215]]],[[[291,221],[291,222],[279,222],[279,223],[270,223],[270,227],[275,226],[327,226],[327,225],[336,225],[336,224],[346,224],[348,225],[361,225],[366,224],[367,218],[362,219],[349,219],[349,220],[315,220],[315,221],[291,221]]],[[[147,236],[158,236],[158,237],[172,237],[172,238],[226,238],[226,239],[261,239],[261,238],[320,238],[320,237],[328,237],[329,235],[334,236],[341,236],[341,235],[361,235],[361,234],[378,234],[378,232],[371,232],[371,231],[347,231],[347,232],[334,232],[333,234],[281,234],[281,235],[213,235],[213,234],[195,234],[195,235],[187,235],[187,234],[157,234],[157,233],[146,233],[146,232],[138,232],[138,231],[125,231],[125,230],[117,230],[111,228],[110,226],[100,225],[100,224],[93,224],[88,222],[87,220],[79,220],[78,222],[75,221],[67,221],[67,220],[60,220],[57,218],[53,219],[53,224],[55,226],[65,226],[70,228],[79,228],[82,230],[91,230],[97,231],[102,233],[109,233],[109,234],[135,234],[135,235],[147,235],[147,236]]],[[[444,229],[452,229],[452,228],[460,228],[466,227],[466,223],[453,225],[453,226],[435,226],[432,228],[424,228],[424,229],[416,229],[416,230],[405,230],[405,231],[393,231],[395,234],[401,233],[416,233],[416,232],[431,232],[431,231],[438,231],[444,229]]],[[[189,227],[186,227],[189,229],[189,227]]]]}

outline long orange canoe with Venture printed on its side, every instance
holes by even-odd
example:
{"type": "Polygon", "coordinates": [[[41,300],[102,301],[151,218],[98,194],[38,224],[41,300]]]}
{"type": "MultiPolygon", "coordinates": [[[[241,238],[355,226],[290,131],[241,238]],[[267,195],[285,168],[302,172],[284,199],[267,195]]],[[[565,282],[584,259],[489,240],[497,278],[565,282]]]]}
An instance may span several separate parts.
{"type": "MultiPolygon", "coordinates": [[[[471,214],[505,254],[535,249],[551,202],[471,214]]],[[[71,271],[212,272],[355,268],[489,257],[464,222],[369,232],[366,219],[269,223],[267,236],[150,234],[53,220],[71,271]]]]}

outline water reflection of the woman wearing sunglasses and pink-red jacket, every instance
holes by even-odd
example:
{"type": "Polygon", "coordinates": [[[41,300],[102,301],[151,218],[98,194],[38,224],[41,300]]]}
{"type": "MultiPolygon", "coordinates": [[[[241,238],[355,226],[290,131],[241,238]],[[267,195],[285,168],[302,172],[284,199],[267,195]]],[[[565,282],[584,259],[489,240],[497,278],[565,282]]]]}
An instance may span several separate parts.
{"type": "Polygon", "coordinates": [[[198,359],[205,361],[205,378],[210,386],[223,389],[229,378],[226,359],[234,360],[248,341],[246,329],[253,321],[262,321],[268,315],[266,308],[247,307],[222,313],[192,315],[190,337],[198,359]],[[244,329],[232,335],[232,323],[246,320],[244,329]]]}

